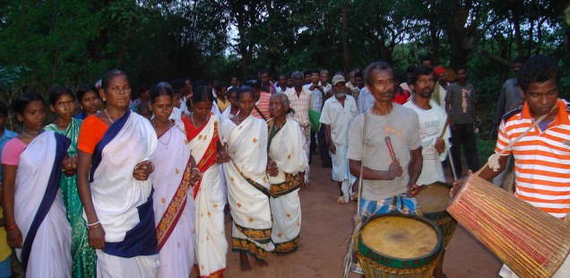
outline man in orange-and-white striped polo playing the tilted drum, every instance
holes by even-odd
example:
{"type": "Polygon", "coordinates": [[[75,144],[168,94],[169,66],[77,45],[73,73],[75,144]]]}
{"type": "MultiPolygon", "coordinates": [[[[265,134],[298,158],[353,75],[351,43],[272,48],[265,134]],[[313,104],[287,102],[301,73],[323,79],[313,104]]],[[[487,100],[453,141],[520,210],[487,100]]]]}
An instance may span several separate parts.
{"type": "MultiPolygon", "coordinates": [[[[503,117],[495,152],[503,151],[539,117],[546,117],[512,147],[500,153],[498,171],[486,167],[479,177],[487,180],[496,177],[505,169],[508,156],[513,153],[514,195],[567,220],[570,212],[570,104],[558,99],[560,70],[557,61],[548,56],[533,56],[522,65],[517,80],[525,101],[522,108],[507,112],[503,117]]],[[[454,186],[461,183],[462,180],[454,186]]],[[[499,275],[517,277],[506,265],[499,275]]],[[[570,277],[567,258],[554,277],[570,277]]]]}

